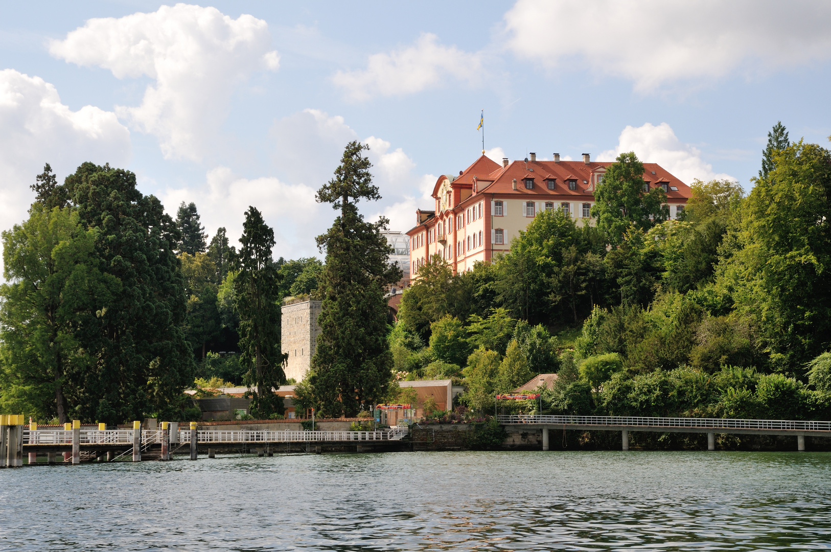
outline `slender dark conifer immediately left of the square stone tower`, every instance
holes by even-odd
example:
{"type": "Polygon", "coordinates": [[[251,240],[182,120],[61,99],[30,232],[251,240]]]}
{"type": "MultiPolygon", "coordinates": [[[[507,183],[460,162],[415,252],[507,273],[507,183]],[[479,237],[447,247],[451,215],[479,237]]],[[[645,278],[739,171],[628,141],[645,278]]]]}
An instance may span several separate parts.
{"type": "Polygon", "coordinates": [[[234,275],[239,314],[240,362],[248,365],[246,381],[255,386],[252,408],[259,416],[283,414],[283,399],[273,389],[286,379],[280,347],[280,297],[277,267],[271,249],[274,231],[255,207],[248,207],[239,239],[234,275]]]}

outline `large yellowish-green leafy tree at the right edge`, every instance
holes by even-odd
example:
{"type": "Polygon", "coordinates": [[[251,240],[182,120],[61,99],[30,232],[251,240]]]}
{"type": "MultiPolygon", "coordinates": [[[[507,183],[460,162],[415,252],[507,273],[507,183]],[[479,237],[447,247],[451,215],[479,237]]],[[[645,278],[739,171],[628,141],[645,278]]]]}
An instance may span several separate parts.
{"type": "Polygon", "coordinates": [[[831,343],[831,151],[800,140],[773,159],[742,205],[720,284],[758,324],[774,369],[801,376],[831,343]]]}

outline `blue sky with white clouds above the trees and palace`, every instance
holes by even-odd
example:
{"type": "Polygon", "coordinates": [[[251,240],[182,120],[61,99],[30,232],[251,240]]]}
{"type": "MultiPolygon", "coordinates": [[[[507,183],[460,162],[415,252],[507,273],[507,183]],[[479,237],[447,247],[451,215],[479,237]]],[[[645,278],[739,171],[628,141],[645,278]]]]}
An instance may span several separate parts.
{"type": "Polygon", "coordinates": [[[135,172],[175,217],[235,238],[254,206],[275,257],[317,255],[315,191],[370,146],[391,229],[442,174],[633,150],[686,183],[749,191],[767,132],[828,147],[831,2],[0,2],[0,227],[44,163],[135,172]]]}

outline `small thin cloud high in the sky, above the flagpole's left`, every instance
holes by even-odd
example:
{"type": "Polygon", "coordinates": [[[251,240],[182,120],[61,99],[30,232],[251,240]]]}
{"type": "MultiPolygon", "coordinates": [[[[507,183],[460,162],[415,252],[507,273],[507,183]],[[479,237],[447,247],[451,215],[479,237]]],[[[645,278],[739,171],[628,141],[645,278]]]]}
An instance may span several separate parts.
{"type": "Polygon", "coordinates": [[[438,86],[444,79],[475,83],[482,74],[478,53],[446,47],[425,32],[416,44],[390,53],[373,54],[361,71],[337,71],[332,81],[355,101],[375,96],[405,96],[438,86]]]}

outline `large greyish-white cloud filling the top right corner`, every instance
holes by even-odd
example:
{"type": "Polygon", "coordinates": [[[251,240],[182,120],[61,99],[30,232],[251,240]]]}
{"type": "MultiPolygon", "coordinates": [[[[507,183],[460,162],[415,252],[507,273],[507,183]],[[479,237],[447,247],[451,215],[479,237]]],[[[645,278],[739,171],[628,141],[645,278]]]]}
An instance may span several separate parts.
{"type": "Polygon", "coordinates": [[[584,64],[640,91],[831,58],[831,3],[821,1],[519,0],[504,21],[519,57],[584,64]]]}

